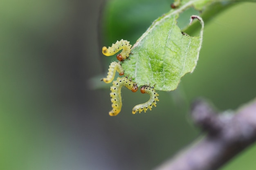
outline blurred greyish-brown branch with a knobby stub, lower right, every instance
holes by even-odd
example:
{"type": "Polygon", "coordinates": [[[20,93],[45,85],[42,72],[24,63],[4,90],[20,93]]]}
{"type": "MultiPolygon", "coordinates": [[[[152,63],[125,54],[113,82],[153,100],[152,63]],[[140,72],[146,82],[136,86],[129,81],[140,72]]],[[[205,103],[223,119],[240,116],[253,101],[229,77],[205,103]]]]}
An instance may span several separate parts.
{"type": "Polygon", "coordinates": [[[216,114],[202,99],[191,107],[192,119],[207,132],[155,170],[216,170],[256,141],[256,99],[237,113],[216,114]]]}

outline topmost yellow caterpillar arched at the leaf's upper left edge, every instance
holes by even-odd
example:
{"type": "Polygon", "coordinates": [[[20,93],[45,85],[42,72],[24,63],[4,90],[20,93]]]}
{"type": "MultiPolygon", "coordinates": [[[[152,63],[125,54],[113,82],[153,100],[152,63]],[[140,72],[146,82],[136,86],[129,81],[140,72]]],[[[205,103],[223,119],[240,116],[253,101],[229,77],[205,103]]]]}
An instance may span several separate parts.
{"type": "Polygon", "coordinates": [[[109,46],[108,48],[106,46],[103,46],[102,53],[106,56],[110,56],[123,49],[123,51],[117,55],[117,60],[123,61],[127,57],[129,57],[131,48],[132,45],[130,45],[129,41],[121,39],[120,41],[117,41],[115,44],[112,44],[112,46],[109,46]]]}

